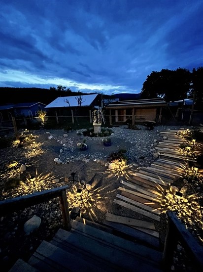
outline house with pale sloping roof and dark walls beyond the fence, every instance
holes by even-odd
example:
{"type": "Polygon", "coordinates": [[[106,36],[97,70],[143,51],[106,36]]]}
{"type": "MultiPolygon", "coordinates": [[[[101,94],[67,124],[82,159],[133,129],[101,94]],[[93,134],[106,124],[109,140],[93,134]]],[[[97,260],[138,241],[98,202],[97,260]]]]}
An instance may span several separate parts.
{"type": "Polygon", "coordinates": [[[60,116],[74,114],[89,115],[89,111],[101,105],[99,94],[85,94],[77,96],[58,97],[45,107],[49,113],[55,112],[60,116]]]}

